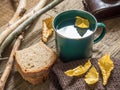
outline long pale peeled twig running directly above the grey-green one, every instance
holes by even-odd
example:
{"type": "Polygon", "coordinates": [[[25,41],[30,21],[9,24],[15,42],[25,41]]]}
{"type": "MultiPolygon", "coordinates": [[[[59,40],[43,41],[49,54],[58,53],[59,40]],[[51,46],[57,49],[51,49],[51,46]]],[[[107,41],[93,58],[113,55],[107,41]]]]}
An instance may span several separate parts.
{"type": "Polygon", "coordinates": [[[36,11],[44,7],[49,0],[40,0],[38,5],[28,14],[24,15],[21,19],[15,22],[13,25],[10,25],[5,31],[0,34],[0,45],[4,41],[4,39],[14,30],[16,29],[21,23],[23,23],[26,19],[31,17],[36,11]]]}

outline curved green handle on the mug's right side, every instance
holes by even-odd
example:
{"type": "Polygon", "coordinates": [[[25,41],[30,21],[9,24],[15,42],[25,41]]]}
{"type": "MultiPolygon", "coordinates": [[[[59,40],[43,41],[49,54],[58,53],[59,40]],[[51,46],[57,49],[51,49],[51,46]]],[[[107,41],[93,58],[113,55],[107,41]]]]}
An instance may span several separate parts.
{"type": "Polygon", "coordinates": [[[102,28],[101,34],[94,40],[94,44],[98,43],[102,40],[102,38],[105,36],[106,33],[106,26],[104,23],[97,23],[98,28],[102,28]]]}

